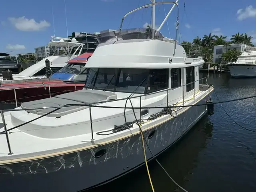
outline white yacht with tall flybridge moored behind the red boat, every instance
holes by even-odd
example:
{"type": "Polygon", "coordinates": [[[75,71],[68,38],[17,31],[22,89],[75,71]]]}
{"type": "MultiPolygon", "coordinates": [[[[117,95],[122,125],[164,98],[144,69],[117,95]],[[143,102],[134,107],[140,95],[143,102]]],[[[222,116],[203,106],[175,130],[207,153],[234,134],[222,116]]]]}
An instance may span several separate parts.
{"type": "Polygon", "coordinates": [[[45,63],[46,59],[50,61],[50,74],[54,74],[62,67],[66,66],[68,60],[79,56],[84,44],[78,43],[75,38],[71,40],[67,38],[52,37],[52,41],[48,43],[48,46],[53,52],[51,56],[42,59],[19,74],[13,74],[13,80],[3,80],[3,77],[0,77],[0,81],[2,83],[10,83],[20,82],[20,80],[46,78],[46,74],[48,73],[45,63]]]}

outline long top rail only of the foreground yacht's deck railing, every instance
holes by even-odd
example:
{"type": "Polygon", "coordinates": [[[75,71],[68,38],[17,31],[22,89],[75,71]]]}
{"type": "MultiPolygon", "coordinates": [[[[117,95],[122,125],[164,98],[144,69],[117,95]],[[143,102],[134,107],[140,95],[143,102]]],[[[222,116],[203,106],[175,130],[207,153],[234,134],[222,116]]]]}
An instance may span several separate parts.
{"type": "MultiPolygon", "coordinates": [[[[201,79],[198,79],[196,81],[193,81],[193,82],[190,82],[188,84],[184,84],[184,85],[181,85],[179,87],[184,87],[186,85],[189,85],[189,84],[192,84],[192,83],[195,83],[195,82],[198,82],[200,80],[203,80],[203,79],[206,79],[206,83],[207,83],[207,86],[208,86],[208,82],[207,82],[207,78],[204,77],[204,78],[201,78],[201,79]]],[[[152,93],[149,93],[149,94],[140,94],[138,96],[132,96],[130,97],[131,99],[134,99],[134,98],[140,98],[140,97],[144,97],[144,96],[149,96],[149,95],[152,95],[152,94],[157,94],[157,93],[161,93],[161,92],[166,92],[168,90],[174,90],[178,87],[175,87],[175,88],[168,88],[168,89],[164,89],[164,90],[160,90],[160,91],[156,91],[156,92],[152,92],[152,93]]],[[[185,95],[185,94],[184,94],[185,95]]],[[[101,104],[101,103],[108,103],[108,102],[115,102],[115,101],[121,101],[121,100],[126,100],[127,98],[120,98],[120,99],[116,99],[116,100],[108,100],[108,101],[100,101],[100,102],[92,102],[92,103],[87,103],[86,105],[92,105],[93,107],[93,104],[101,104]]],[[[75,104],[73,105],[65,105],[65,106],[54,106],[54,107],[40,107],[40,108],[28,108],[28,109],[22,109],[22,108],[19,108],[19,109],[5,109],[5,110],[0,110],[0,112],[8,112],[8,111],[24,111],[24,110],[39,110],[39,109],[54,109],[54,108],[65,108],[65,107],[70,107],[70,106],[76,106],[75,104]]],[[[80,106],[80,105],[77,105],[77,106],[80,106]]]]}

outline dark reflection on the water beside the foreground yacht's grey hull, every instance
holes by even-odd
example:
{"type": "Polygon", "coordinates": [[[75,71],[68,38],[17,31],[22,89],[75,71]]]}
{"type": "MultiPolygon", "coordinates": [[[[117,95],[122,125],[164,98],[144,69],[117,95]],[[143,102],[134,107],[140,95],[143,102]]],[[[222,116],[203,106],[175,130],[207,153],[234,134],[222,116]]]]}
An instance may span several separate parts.
{"type": "MultiPolygon", "coordinates": [[[[157,157],[166,171],[181,186],[190,180],[193,169],[200,162],[198,155],[206,147],[207,140],[212,138],[212,128],[210,119],[208,116],[204,116],[184,138],[157,157]]],[[[149,169],[155,191],[176,190],[177,186],[154,160],[149,162],[149,169]]],[[[112,192],[151,191],[146,166],[142,166],[108,184],[87,191],[110,190],[112,192]]]]}

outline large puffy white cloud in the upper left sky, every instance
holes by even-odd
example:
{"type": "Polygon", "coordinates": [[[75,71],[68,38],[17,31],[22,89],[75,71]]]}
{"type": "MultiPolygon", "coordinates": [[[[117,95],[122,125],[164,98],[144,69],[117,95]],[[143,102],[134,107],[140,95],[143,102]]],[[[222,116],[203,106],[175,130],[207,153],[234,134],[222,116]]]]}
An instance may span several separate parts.
{"type": "Polygon", "coordinates": [[[19,18],[10,17],[8,20],[16,29],[21,31],[40,31],[50,26],[50,23],[46,22],[46,20],[36,22],[34,19],[25,18],[25,16],[19,18]]]}

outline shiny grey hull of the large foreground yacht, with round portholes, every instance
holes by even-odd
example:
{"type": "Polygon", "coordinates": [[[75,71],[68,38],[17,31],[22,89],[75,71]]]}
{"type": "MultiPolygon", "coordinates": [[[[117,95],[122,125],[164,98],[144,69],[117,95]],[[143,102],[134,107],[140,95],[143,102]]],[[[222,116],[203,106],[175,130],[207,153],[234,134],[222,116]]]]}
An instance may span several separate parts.
{"type": "MultiPolygon", "coordinates": [[[[206,95],[197,104],[208,100],[206,95]]],[[[160,154],[184,136],[207,112],[206,106],[187,108],[177,118],[144,131],[148,145],[160,154]],[[153,133],[153,134],[152,134],[153,133]],[[151,137],[152,136],[152,137],[151,137]],[[151,137],[151,138],[150,138],[151,137]]],[[[147,159],[152,159],[146,149],[147,159]]],[[[95,148],[50,158],[0,165],[2,187],[8,191],[63,191],[93,188],[144,164],[140,134],[95,148]],[[95,158],[96,152],[106,153],[95,158]],[[14,185],[16,181],[22,186],[14,185]]],[[[146,171],[146,170],[145,170],[146,171]]]]}

